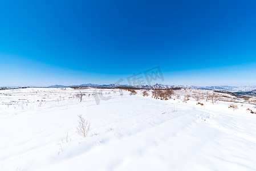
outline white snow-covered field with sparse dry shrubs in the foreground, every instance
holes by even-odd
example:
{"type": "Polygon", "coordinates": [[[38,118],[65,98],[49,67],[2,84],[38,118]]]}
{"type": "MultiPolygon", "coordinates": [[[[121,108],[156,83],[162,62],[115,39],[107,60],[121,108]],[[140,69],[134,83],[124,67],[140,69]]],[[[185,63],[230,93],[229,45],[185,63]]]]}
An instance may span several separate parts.
{"type": "Polygon", "coordinates": [[[254,104],[103,89],[111,99],[96,105],[100,89],[81,91],[82,102],[71,88],[0,91],[0,170],[256,170],[254,104]]]}

